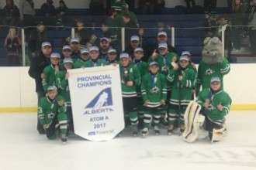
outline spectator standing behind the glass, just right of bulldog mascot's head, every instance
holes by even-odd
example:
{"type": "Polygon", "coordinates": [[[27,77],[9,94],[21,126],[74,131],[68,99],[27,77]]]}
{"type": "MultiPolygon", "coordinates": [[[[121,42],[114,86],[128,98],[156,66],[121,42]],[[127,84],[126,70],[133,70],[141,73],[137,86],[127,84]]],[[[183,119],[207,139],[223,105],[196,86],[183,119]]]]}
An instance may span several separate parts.
{"type": "MultiPolygon", "coordinates": [[[[255,0],[256,1],[256,0],[255,0]]],[[[224,56],[230,61],[230,52],[233,49],[233,34],[230,25],[227,23],[227,16],[222,15],[218,19],[219,28],[216,30],[216,37],[222,40],[222,29],[224,29],[224,56]]]]}

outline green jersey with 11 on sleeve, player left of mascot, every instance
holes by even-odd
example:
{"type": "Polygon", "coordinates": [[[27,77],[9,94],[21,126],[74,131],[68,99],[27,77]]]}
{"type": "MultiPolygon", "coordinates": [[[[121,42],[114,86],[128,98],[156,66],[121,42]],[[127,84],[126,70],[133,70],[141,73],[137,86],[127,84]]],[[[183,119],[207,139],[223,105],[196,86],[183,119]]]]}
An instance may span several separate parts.
{"type": "Polygon", "coordinates": [[[192,99],[192,87],[195,82],[195,71],[187,67],[185,70],[169,70],[167,79],[173,83],[170,104],[189,105],[192,99]],[[183,76],[178,80],[178,76],[183,76]]]}

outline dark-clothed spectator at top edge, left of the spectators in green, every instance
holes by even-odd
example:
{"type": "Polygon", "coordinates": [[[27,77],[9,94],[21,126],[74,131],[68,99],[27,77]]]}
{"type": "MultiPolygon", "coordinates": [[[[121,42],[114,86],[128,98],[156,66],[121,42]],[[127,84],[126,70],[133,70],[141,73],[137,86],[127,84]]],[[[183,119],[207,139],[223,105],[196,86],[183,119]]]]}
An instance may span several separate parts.
{"type": "Polygon", "coordinates": [[[95,27],[95,15],[104,14],[104,1],[103,0],[91,0],[90,2],[90,12],[92,15],[92,27],[95,27]]]}

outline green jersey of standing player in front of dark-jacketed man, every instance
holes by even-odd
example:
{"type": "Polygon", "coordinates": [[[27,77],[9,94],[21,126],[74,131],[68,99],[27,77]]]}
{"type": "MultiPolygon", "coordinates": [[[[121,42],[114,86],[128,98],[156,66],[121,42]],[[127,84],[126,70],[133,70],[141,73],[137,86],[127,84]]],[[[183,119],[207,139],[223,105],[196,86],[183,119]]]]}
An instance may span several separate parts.
{"type": "Polygon", "coordinates": [[[46,66],[43,69],[43,73],[45,74],[45,78],[42,80],[43,83],[43,90],[47,91],[49,86],[56,86],[56,73],[55,68],[52,64],[46,66]]]}

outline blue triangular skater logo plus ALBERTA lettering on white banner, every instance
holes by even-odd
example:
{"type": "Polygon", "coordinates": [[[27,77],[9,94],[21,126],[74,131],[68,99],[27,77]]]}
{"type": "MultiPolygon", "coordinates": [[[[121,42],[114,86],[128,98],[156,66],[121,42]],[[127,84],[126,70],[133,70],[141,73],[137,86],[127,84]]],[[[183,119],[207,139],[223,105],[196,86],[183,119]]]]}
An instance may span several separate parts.
{"type": "Polygon", "coordinates": [[[84,114],[99,114],[102,112],[113,111],[110,106],[112,106],[112,92],[109,87],[100,91],[92,99],[92,101],[85,107],[85,109],[89,110],[86,110],[84,114]]]}

